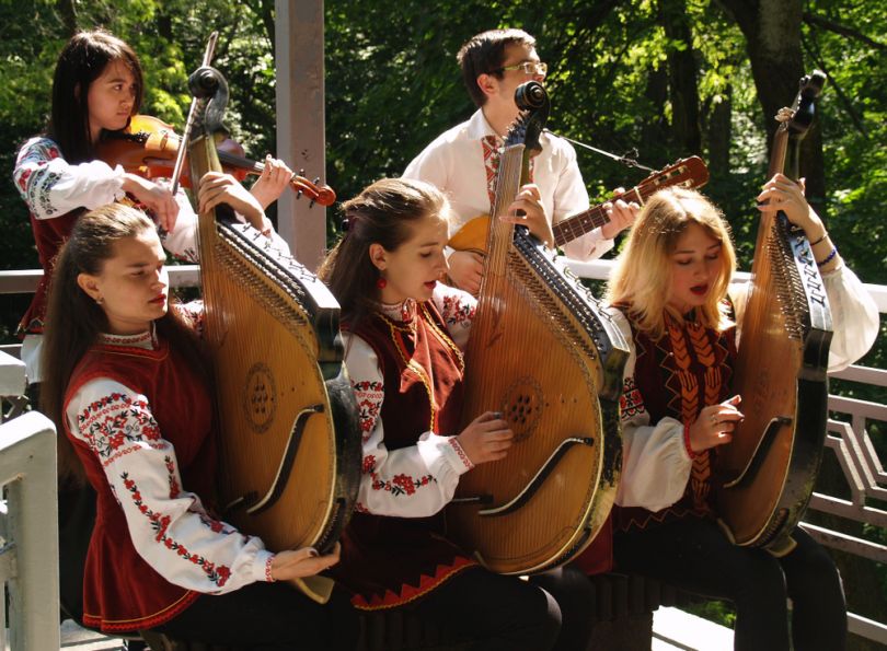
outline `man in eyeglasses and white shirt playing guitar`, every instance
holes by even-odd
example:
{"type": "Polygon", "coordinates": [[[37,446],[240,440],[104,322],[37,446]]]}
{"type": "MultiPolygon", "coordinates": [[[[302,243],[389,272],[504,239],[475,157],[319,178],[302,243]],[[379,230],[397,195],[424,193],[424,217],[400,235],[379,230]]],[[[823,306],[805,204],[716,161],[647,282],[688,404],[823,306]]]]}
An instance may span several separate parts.
{"type": "MultiPolygon", "coordinates": [[[[522,30],[492,30],[469,39],[457,55],[469,94],[477,105],[471,118],[445,131],[407,165],[403,176],[427,181],[444,190],[453,208],[450,236],[472,219],[488,214],[495,197],[496,170],[503,139],[518,116],[515,90],[535,80],[544,82],[548,66],[539,59],[535,39],[522,30]]],[[[576,164],[576,152],[562,138],[543,133],[542,153],[531,159],[532,184],[521,188],[511,210],[526,214],[530,230],[551,244],[551,223],[586,210],[588,191],[576,164]]],[[[610,251],[613,237],[630,225],[634,212],[621,201],[612,221],[564,246],[580,260],[610,251]]],[[[483,274],[481,256],[449,253],[450,279],[477,293],[483,274]]]]}

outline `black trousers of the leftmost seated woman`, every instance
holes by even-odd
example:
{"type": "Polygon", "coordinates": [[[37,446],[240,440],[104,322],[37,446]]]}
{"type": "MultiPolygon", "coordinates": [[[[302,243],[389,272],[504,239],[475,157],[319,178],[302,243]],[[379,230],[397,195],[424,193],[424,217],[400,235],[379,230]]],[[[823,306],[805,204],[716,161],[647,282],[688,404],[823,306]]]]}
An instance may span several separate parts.
{"type": "Polygon", "coordinates": [[[226,594],[203,594],[153,630],[251,651],[353,651],[360,623],[341,590],[321,605],[288,583],[251,583],[226,594]]]}

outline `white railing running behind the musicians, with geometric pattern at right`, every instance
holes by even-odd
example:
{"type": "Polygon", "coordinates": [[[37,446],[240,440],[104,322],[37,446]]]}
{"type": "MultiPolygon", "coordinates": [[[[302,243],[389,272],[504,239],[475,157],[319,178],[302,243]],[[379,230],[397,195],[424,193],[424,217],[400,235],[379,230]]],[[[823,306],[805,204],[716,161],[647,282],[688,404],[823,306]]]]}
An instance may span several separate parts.
{"type": "MultiPolygon", "coordinates": [[[[583,278],[606,280],[610,275],[612,261],[571,261],[569,266],[577,276],[583,278]]],[[[41,275],[41,270],[0,271],[0,294],[33,292],[41,275]]],[[[748,274],[737,274],[737,282],[744,282],[747,279],[748,274]]],[[[196,266],[170,267],[170,281],[173,287],[198,286],[199,269],[196,266]]],[[[865,289],[874,298],[878,311],[882,314],[887,313],[887,287],[866,284],[865,289]]],[[[15,345],[0,347],[0,351],[7,350],[13,356],[18,354],[18,349],[19,346],[15,345]]],[[[1,365],[0,373],[2,373],[1,365]]],[[[879,387],[887,386],[887,370],[883,369],[853,365],[840,373],[834,373],[832,376],[879,387]]],[[[838,463],[844,473],[851,499],[839,499],[815,492],[809,508],[814,511],[839,515],[856,523],[887,527],[887,511],[869,504],[872,500],[887,501],[887,473],[885,473],[883,463],[877,457],[866,431],[868,421],[887,422],[887,404],[830,395],[829,410],[832,414],[841,414],[849,419],[849,422],[829,420],[829,434],[826,445],[837,456],[838,463]]],[[[55,487],[55,480],[49,484],[55,487]]],[[[53,503],[55,505],[55,501],[53,503]]],[[[887,563],[887,546],[885,545],[809,523],[803,523],[803,526],[827,547],[841,549],[875,562],[887,563]]],[[[55,559],[55,556],[53,558],[55,559]]],[[[850,614],[848,616],[848,630],[882,644],[887,644],[887,624],[885,623],[873,621],[860,615],[850,614]]]]}

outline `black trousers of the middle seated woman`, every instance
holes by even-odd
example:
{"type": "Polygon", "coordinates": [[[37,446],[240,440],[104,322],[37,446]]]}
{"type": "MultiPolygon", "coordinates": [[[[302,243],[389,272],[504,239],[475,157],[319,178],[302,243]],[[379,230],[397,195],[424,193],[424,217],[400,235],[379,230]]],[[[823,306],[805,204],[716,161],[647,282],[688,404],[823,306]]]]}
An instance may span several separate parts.
{"type": "Polygon", "coordinates": [[[470,648],[476,651],[548,651],[561,628],[561,611],[544,590],[482,568],[463,570],[402,607],[475,640],[470,648]]]}

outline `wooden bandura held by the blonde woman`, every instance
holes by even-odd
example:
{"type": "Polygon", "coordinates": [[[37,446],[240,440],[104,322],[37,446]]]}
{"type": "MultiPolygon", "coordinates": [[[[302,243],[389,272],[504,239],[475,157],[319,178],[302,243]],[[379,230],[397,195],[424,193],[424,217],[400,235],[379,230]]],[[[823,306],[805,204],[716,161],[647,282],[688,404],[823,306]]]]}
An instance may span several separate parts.
{"type": "MultiPolygon", "coordinates": [[[[821,88],[821,85],[820,85],[821,88]]],[[[777,138],[788,138],[787,131],[777,138]]],[[[785,161],[786,144],[776,168],[785,161]]],[[[761,219],[734,393],[744,422],[717,449],[722,525],[738,545],[787,554],[813,493],[828,418],[831,312],[804,232],[783,213],[761,219]]]]}

